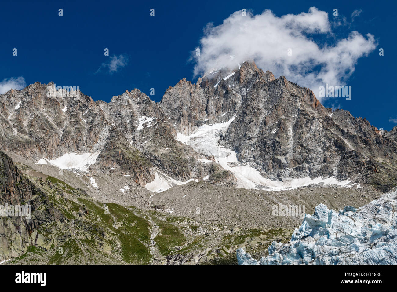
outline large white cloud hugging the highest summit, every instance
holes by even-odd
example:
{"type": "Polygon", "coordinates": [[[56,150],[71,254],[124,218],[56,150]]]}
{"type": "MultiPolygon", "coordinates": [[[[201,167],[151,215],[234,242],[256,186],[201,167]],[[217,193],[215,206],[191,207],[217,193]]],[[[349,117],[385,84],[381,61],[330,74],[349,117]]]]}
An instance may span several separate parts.
{"type": "Polygon", "coordinates": [[[285,75],[318,96],[318,87],[325,83],[347,85],[358,58],[375,47],[373,35],[364,37],[357,31],[335,42],[327,12],[315,7],[308,13],[281,17],[270,10],[258,15],[247,12],[246,16],[237,11],[221,25],[207,25],[200,40],[200,56],[193,51],[193,58],[195,75],[212,68],[235,68],[237,63],[254,60],[264,71],[270,70],[276,77],[285,75]],[[289,48],[292,56],[287,54],[289,48]]]}

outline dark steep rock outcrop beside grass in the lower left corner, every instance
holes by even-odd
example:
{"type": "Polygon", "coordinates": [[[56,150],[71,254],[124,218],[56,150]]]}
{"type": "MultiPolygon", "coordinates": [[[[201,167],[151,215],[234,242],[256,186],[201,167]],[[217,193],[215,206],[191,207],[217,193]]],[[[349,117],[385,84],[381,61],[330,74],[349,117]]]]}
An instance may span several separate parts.
{"type": "Polygon", "coordinates": [[[3,152],[0,152],[0,190],[1,206],[31,206],[30,216],[27,212],[25,216],[15,213],[13,216],[8,212],[8,216],[0,217],[0,260],[21,255],[31,245],[48,247],[37,228],[54,222],[62,224],[65,218],[59,209],[51,207],[46,194],[25,178],[3,152]]]}

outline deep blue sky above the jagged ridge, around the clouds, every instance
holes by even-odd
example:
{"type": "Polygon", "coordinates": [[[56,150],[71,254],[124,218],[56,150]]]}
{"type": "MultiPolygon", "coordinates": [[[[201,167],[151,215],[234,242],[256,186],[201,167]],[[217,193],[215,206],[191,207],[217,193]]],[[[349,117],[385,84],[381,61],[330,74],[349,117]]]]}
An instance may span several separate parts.
{"type": "Polygon", "coordinates": [[[308,12],[312,6],[327,12],[330,22],[341,23],[332,33],[313,36],[320,46],[333,46],[352,31],[370,33],[376,44],[368,56],[358,58],[346,81],[352,86],[352,99],[338,97],[322,103],[391,130],[397,124],[395,1],[2,1],[0,82],[23,77],[26,84],[54,81],[61,86],[80,86],[95,101],[110,101],[113,95],[133,88],[149,95],[154,88],[155,95],[149,96],[160,101],[165,90],[180,79],[197,80],[196,64],[190,57],[200,47],[207,23],[220,25],[243,8],[253,15],[269,9],[281,17],[308,12]],[[58,16],[59,8],[63,16],[58,16]],[[354,11],[358,15],[352,19],[354,11]],[[13,48],[17,56],[12,55],[13,48]],[[104,48],[109,48],[109,56],[104,56],[104,48]],[[384,56],[379,56],[379,48],[384,49],[384,56]],[[119,66],[109,66],[112,58],[119,66]],[[110,72],[110,68],[117,70],[110,72]]]}

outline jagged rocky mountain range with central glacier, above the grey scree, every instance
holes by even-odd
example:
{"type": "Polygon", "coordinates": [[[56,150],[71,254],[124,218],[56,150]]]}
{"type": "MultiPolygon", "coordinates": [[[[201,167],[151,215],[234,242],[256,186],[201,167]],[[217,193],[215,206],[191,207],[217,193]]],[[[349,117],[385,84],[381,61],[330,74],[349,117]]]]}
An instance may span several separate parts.
{"type": "Polygon", "coordinates": [[[37,82],[0,95],[2,150],[47,163],[95,154],[85,170],[131,176],[141,186],[207,176],[263,189],[292,187],[294,178],[302,186],[396,186],[395,129],[381,135],[365,118],[324,108],[310,89],[254,62],[208,72],[196,84],[182,79],[161,102],[137,89],[94,102],[80,92],[50,92],[54,86],[37,82]]]}

